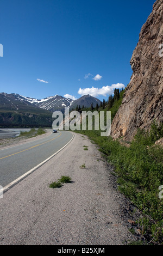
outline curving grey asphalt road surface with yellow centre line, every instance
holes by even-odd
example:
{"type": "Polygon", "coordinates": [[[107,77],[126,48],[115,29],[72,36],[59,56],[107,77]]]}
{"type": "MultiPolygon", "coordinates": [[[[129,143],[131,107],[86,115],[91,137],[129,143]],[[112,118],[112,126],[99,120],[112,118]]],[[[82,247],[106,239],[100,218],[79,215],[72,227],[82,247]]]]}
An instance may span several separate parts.
{"type": "Polygon", "coordinates": [[[51,157],[72,139],[59,131],[36,141],[0,150],[0,185],[5,187],[51,157]]]}

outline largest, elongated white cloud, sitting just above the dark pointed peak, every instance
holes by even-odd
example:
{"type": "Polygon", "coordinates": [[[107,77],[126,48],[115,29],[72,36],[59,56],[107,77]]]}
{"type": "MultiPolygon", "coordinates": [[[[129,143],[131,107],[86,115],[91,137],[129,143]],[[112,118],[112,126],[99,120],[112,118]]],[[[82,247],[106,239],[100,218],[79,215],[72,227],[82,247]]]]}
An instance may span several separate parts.
{"type": "Polygon", "coordinates": [[[90,94],[93,97],[97,97],[97,96],[107,96],[109,94],[113,94],[114,93],[114,89],[121,89],[121,88],[125,88],[123,83],[117,83],[117,84],[112,84],[111,86],[103,86],[102,88],[80,88],[78,90],[78,94],[83,96],[83,95],[87,95],[90,94]]]}

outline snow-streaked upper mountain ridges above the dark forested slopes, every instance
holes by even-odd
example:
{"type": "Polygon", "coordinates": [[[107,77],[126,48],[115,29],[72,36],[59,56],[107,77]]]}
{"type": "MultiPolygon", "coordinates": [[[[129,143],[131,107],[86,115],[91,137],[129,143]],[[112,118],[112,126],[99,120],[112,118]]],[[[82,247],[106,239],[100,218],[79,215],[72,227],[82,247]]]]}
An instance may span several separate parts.
{"type": "Polygon", "coordinates": [[[45,99],[34,99],[32,97],[26,97],[19,94],[11,93],[0,93],[0,111],[1,109],[15,110],[15,111],[30,111],[30,109],[45,109],[48,112],[62,111],[64,113],[65,107],[70,107],[70,109],[75,109],[78,106],[80,107],[90,107],[93,104],[93,107],[100,105],[101,101],[92,97],[90,95],[84,95],[78,100],[73,101],[72,99],[66,99],[60,95],[54,95],[46,97],[45,99]]]}

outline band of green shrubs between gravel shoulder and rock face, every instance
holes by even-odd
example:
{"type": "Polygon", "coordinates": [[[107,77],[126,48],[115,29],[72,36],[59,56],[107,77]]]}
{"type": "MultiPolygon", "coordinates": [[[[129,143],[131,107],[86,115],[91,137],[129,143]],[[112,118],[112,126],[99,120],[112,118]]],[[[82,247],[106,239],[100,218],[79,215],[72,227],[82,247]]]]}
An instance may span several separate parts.
{"type": "Polygon", "coordinates": [[[162,136],[162,125],[153,124],[150,132],[138,130],[130,147],[111,137],[97,136],[94,131],[82,133],[99,145],[108,162],[115,166],[118,189],[141,210],[142,235],[150,244],[160,245],[163,200],[159,198],[159,186],[163,185],[163,149],[154,142],[162,136]]]}

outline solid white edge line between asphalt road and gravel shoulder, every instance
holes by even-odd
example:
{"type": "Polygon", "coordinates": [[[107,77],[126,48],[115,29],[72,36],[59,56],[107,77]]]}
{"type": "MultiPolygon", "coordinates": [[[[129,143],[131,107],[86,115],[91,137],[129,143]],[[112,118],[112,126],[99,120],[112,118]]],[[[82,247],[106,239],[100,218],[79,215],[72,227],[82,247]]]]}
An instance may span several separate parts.
{"type": "Polygon", "coordinates": [[[55,155],[57,155],[62,149],[66,148],[68,144],[70,144],[74,138],[74,134],[71,132],[72,139],[70,142],[68,142],[66,145],[64,145],[64,147],[62,147],[61,149],[59,149],[57,152],[55,152],[52,156],[48,157],[46,160],[44,160],[42,163],[39,163],[37,166],[35,166],[33,169],[30,169],[27,173],[24,173],[22,176],[20,176],[19,178],[17,178],[16,180],[12,181],[10,184],[8,184],[7,186],[3,187],[2,190],[0,190],[0,196],[2,193],[5,193],[6,191],[9,190],[9,188],[13,187],[14,185],[16,185],[18,182],[20,182],[21,180],[23,180],[24,178],[26,178],[29,174],[33,173],[36,169],[38,169],[39,167],[41,167],[43,164],[45,164],[47,161],[49,161],[50,159],[52,159],[52,157],[54,157],[55,155]]]}

